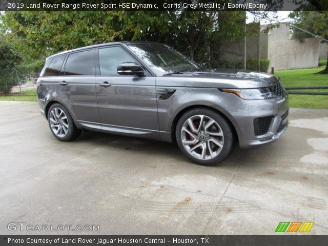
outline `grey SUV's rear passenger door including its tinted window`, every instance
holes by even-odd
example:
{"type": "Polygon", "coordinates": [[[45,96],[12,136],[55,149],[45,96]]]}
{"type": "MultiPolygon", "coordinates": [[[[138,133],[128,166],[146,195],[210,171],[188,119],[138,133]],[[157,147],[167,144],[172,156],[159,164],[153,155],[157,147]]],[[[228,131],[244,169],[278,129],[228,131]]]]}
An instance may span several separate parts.
{"type": "Polygon", "coordinates": [[[58,94],[71,109],[73,118],[85,127],[100,129],[95,87],[95,49],[69,53],[64,64],[64,76],[59,81],[58,94]]]}

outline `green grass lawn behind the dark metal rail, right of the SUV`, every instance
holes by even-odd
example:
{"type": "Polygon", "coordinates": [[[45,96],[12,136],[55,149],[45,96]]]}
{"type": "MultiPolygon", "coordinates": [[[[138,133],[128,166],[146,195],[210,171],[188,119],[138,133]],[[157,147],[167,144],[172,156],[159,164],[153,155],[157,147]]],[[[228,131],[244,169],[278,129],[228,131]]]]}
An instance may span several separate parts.
{"type": "MultiPolygon", "coordinates": [[[[281,78],[283,86],[328,86],[328,74],[315,74],[323,69],[324,67],[281,70],[275,74],[281,78]]],[[[328,89],[307,91],[328,92],[328,89]]],[[[293,108],[327,109],[328,95],[289,95],[289,103],[293,108]]]]}

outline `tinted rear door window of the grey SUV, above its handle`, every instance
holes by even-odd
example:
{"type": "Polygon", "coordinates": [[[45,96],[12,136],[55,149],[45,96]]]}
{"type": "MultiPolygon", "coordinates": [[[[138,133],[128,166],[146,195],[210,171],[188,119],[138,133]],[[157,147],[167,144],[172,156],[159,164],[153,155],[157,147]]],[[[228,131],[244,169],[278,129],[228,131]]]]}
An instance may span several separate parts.
{"type": "Polygon", "coordinates": [[[68,55],[65,75],[94,75],[94,50],[85,50],[68,55]]]}

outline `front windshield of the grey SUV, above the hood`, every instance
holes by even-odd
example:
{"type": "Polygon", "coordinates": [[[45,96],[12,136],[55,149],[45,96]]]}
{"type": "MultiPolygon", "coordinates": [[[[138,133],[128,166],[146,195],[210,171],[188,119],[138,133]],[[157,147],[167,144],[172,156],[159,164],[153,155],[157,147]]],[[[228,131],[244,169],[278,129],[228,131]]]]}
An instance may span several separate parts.
{"type": "Polygon", "coordinates": [[[127,44],[134,53],[159,75],[199,69],[199,65],[176,50],[152,43],[127,44]]]}

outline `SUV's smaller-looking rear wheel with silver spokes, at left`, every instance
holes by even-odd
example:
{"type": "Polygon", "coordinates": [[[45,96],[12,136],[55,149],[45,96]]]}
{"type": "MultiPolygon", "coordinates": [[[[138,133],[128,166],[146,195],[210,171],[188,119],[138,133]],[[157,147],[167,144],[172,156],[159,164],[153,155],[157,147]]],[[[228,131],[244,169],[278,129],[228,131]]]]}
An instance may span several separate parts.
{"type": "Polygon", "coordinates": [[[48,124],[52,134],[60,141],[71,141],[81,133],[81,130],[76,128],[68,110],[59,103],[50,106],[48,124]]]}

